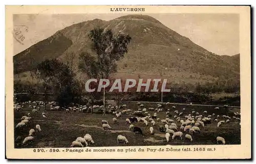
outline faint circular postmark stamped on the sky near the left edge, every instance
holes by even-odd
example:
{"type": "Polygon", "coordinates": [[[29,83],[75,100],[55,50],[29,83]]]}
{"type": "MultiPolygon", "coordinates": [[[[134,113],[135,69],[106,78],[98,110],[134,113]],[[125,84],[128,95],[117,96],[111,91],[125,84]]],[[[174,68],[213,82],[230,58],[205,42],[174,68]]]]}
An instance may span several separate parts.
{"type": "Polygon", "coordinates": [[[20,44],[24,45],[24,41],[26,39],[26,34],[28,33],[29,28],[26,25],[16,25],[12,31],[12,35],[14,39],[20,44]]]}

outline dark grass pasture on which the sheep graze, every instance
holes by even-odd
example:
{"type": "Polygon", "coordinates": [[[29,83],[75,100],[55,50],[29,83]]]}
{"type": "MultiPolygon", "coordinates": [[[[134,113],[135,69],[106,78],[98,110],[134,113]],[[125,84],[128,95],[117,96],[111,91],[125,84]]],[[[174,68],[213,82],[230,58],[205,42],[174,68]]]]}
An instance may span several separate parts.
{"type": "MultiPolygon", "coordinates": [[[[137,104],[134,102],[126,102],[127,108],[133,111],[137,109],[137,104]]],[[[143,103],[144,107],[157,107],[156,103],[143,103]]],[[[174,116],[174,111],[172,109],[172,104],[165,106],[165,108],[170,108],[170,114],[174,116]]],[[[41,132],[36,133],[36,138],[33,144],[28,146],[23,146],[21,144],[15,143],[15,148],[62,148],[70,147],[71,143],[76,140],[78,136],[83,137],[85,134],[89,133],[92,135],[94,140],[93,145],[90,147],[101,147],[101,146],[126,146],[124,144],[117,144],[117,135],[121,134],[126,136],[129,143],[127,146],[150,146],[150,145],[212,145],[217,144],[216,137],[222,136],[226,140],[226,144],[241,144],[241,128],[239,121],[232,118],[234,112],[240,113],[240,108],[230,108],[226,110],[223,107],[217,111],[214,106],[190,106],[190,105],[176,105],[176,110],[182,112],[182,108],[186,108],[183,112],[181,119],[185,120],[184,116],[191,114],[191,109],[194,108],[196,112],[203,115],[203,111],[207,111],[208,116],[212,113],[217,115],[228,115],[231,117],[229,123],[225,123],[221,127],[217,128],[217,122],[214,122],[205,127],[200,127],[201,133],[193,134],[193,142],[185,139],[184,133],[182,140],[174,139],[170,137],[170,141],[167,143],[165,139],[165,133],[159,131],[160,122],[156,121],[156,126],[154,127],[154,135],[150,134],[149,128],[151,124],[149,123],[147,127],[143,125],[142,122],[133,123],[142,129],[143,135],[134,134],[128,131],[129,125],[125,123],[125,119],[129,118],[128,115],[123,115],[122,118],[117,118],[117,123],[113,123],[112,119],[114,115],[102,116],[101,114],[89,114],[89,113],[66,113],[62,111],[44,111],[43,108],[40,109],[38,114],[32,114],[31,109],[28,108],[28,104],[25,104],[22,112],[14,112],[14,140],[18,135],[26,138],[29,134],[31,128],[35,129],[35,125],[39,124],[41,127],[41,132]],[[43,119],[41,113],[45,112],[47,119],[43,119]],[[22,116],[31,113],[32,120],[29,125],[23,129],[15,129],[15,126],[22,116]],[[101,120],[107,120],[112,127],[112,130],[103,130],[101,125],[101,120]]],[[[153,115],[154,111],[147,111],[153,115]]],[[[165,112],[157,113],[158,118],[164,119],[165,112]]],[[[181,123],[177,122],[173,117],[170,118],[175,121],[180,128],[181,123]]],[[[218,121],[225,120],[219,118],[218,121]]],[[[188,132],[186,132],[188,133],[188,132]]]]}

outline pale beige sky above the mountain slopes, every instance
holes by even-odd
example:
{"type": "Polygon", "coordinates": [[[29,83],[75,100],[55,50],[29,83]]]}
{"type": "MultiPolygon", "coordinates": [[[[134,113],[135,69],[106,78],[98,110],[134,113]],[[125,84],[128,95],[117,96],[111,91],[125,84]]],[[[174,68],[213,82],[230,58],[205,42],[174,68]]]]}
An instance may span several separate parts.
{"type": "MultiPolygon", "coordinates": [[[[14,54],[75,23],[93,19],[111,20],[127,14],[19,14],[13,15],[14,29],[20,29],[23,44],[14,40],[14,54]],[[26,28],[25,28],[26,27],[26,28]]],[[[239,52],[238,14],[146,14],[169,29],[219,55],[239,52]]]]}

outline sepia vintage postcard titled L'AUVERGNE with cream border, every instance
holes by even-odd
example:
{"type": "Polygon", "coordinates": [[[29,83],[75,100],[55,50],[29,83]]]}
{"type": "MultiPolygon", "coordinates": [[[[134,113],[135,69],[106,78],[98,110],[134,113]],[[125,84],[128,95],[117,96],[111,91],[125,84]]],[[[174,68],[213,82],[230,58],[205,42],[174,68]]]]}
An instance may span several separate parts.
{"type": "Polygon", "coordinates": [[[6,158],[251,158],[250,6],[6,6],[6,158]]]}

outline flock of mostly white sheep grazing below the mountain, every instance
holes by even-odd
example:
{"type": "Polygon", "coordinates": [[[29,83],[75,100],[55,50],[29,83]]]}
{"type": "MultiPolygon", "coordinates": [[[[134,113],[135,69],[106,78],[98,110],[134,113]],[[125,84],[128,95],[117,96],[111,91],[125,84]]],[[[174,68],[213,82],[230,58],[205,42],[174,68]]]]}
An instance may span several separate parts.
{"type": "MultiPolygon", "coordinates": [[[[22,111],[22,108],[24,104],[29,104],[29,108],[31,109],[32,114],[38,114],[40,111],[40,107],[44,107],[44,102],[42,101],[28,101],[20,104],[14,104],[14,111],[22,111]]],[[[63,110],[63,107],[57,106],[56,102],[49,102],[51,105],[51,110],[63,110]]],[[[170,103],[165,103],[166,106],[170,105],[170,103]]],[[[158,128],[160,132],[165,133],[165,139],[168,143],[170,141],[170,136],[172,136],[172,140],[180,139],[182,140],[182,137],[184,136],[185,139],[189,142],[193,142],[194,134],[200,133],[201,130],[204,129],[204,127],[207,124],[211,124],[211,121],[214,120],[215,122],[218,122],[217,128],[220,126],[223,126],[223,124],[228,124],[229,121],[232,119],[234,121],[239,122],[240,124],[240,116],[241,113],[233,113],[233,117],[229,117],[227,115],[215,115],[207,114],[207,111],[204,111],[203,113],[196,112],[196,110],[191,109],[191,112],[186,112],[186,115],[184,114],[186,111],[186,108],[183,108],[182,111],[178,112],[176,110],[176,106],[170,107],[171,109],[165,109],[161,104],[157,104],[157,108],[149,107],[145,108],[144,104],[137,103],[137,110],[130,110],[127,109],[126,104],[123,104],[119,107],[108,105],[107,106],[107,113],[112,114],[115,116],[112,121],[113,124],[117,122],[125,122],[126,124],[129,124],[129,130],[134,132],[134,134],[142,134],[144,135],[146,132],[149,132],[151,135],[154,136],[155,129],[158,128]],[[170,112],[173,113],[175,116],[172,116],[170,112]],[[151,116],[151,113],[154,113],[151,116]],[[165,118],[160,118],[158,113],[164,112],[165,118]],[[129,116],[129,118],[125,118],[123,120],[124,116],[129,116]],[[137,117],[134,117],[137,116],[137,117]],[[170,118],[174,119],[170,119],[170,118]],[[123,120],[123,121],[122,121],[123,120]],[[142,131],[141,127],[135,126],[134,124],[137,122],[142,122],[145,126],[144,131],[142,131]],[[176,122],[176,123],[175,123],[176,122]]],[[[227,106],[224,106],[227,107],[227,106]]],[[[84,112],[84,110],[88,110],[91,107],[87,107],[86,105],[79,105],[77,106],[70,106],[68,108],[64,108],[64,111],[66,112],[84,112]]],[[[104,106],[97,106],[94,105],[93,108],[98,108],[100,110],[103,110],[104,106]]],[[[215,110],[218,111],[219,107],[215,107],[215,110]]],[[[46,114],[42,112],[42,118],[47,119],[46,114]]],[[[21,121],[16,125],[16,129],[24,129],[24,127],[28,126],[29,123],[32,121],[32,116],[30,113],[27,114],[27,116],[23,116],[21,118],[21,121]]],[[[102,128],[104,130],[112,130],[112,127],[109,124],[110,120],[102,120],[102,128]]],[[[31,128],[28,131],[28,136],[23,140],[22,144],[27,145],[29,142],[34,141],[34,136],[36,135],[36,132],[41,132],[40,125],[37,124],[35,126],[35,129],[31,128]]],[[[21,136],[18,136],[15,140],[16,143],[20,143],[22,140],[21,136]]],[[[226,144],[225,139],[222,136],[217,136],[216,138],[217,144],[222,143],[223,145],[226,144]]],[[[124,135],[117,135],[117,143],[123,143],[127,144],[129,141],[127,140],[126,136],[124,135]]],[[[92,139],[92,136],[90,134],[86,134],[82,137],[78,137],[75,141],[72,142],[70,147],[85,147],[89,144],[94,144],[94,141],[92,139]]]]}

